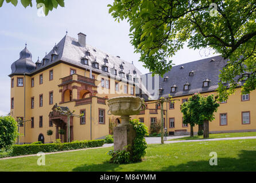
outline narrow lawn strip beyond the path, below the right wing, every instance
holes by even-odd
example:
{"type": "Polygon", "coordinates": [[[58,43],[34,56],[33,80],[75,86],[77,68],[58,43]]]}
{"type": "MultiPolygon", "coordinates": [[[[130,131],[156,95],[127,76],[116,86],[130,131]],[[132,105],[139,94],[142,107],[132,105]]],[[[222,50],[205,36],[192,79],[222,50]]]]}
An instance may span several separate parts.
{"type": "MultiPolygon", "coordinates": [[[[256,132],[242,132],[242,133],[218,133],[209,134],[209,138],[228,138],[228,137],[251,137],[256,136],[256,132]]],[[[184,141],[184,140],[200,140],[205,139],[203,136],[175,138],[169,141],[184,141]]]]}

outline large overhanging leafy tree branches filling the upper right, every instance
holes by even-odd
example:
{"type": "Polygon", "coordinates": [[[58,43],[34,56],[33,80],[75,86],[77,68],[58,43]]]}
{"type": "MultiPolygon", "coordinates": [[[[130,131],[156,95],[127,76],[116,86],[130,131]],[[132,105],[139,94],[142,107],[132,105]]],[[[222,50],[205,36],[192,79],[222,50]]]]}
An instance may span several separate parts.
{"type": "Polygon", "coordinates": [[[156,74],[172,68],[172,57],[184,43],[211,49],[227,59],[220,74],[219,100],[234,93],[245,76],[243,93],[256,87],[256,2],[177,0],[115,0],[109,13],[130,23],[131,44],[139,61],[156,74]],[[245,75],[248,74],[248,75],[245,75]]]}

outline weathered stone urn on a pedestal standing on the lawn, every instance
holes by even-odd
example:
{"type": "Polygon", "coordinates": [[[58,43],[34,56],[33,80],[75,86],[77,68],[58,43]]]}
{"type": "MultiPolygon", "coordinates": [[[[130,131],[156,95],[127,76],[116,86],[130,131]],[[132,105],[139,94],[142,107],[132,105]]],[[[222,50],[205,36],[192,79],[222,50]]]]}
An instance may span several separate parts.
{"type": "Polygon", "coordinates": [[[136,132],[129,123],[130,116],[136,115],[145,109],[145,104],[139,97],[125,96],[110,98],[108,114],[121,116],[121,124],[114,128],[114,150],[131,152],[136,132]],[[142,109],[141,107],[144,106],[142,109]],[[125,148],[127,146],[127,148],[125,148]]]}

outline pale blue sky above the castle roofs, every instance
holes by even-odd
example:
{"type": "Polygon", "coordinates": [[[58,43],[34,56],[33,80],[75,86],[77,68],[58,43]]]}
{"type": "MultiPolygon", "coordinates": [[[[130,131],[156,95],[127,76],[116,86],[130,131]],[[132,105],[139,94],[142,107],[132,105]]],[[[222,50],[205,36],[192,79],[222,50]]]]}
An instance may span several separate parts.
{"type": "MultiPolygon", "coordinates": [[[[47,17],[38,17],[35,1],[33,7],[26,9],[18,3],[14,7],[4,3],[0,8],[0,115],[10,112],[10,78],[11,63],[19,58],[20,51],[28,43],[32,59],[44,57],[55,43],[68,35],[77,38],[77,33],[87,35],[87,43],[111,54],[119,55],[125,61],[134,62],[142,73],[148,70],[138,62],[139,55],[134,54],[134,47],[130,44],[129,23],[115,22],[108,14],[107,5],[111,0],[76,0],[65,1],[65,7],[58,7],[50,11],[47,17]]],[[[214,54],[205,55],[204,50],[191,50],[184,47],[172,59],[173,63],[196,61],[214,54]]]]}

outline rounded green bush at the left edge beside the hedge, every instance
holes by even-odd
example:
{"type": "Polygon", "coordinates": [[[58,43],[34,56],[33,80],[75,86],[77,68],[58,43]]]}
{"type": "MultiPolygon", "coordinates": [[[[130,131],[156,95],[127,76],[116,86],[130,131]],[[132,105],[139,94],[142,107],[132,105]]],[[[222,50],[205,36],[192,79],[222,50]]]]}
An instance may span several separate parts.
{"type": "Polygon", "coordinates": [[[0,149],[9,148],[18,137],[17,122],[11,116],[0,116],[0,149]]]}

